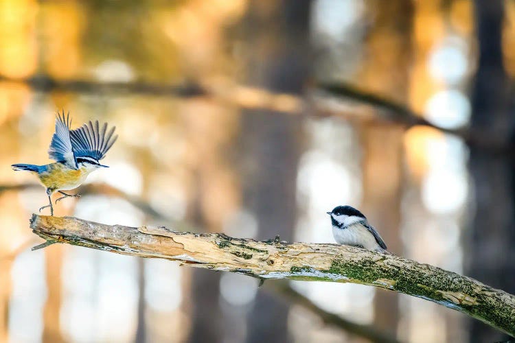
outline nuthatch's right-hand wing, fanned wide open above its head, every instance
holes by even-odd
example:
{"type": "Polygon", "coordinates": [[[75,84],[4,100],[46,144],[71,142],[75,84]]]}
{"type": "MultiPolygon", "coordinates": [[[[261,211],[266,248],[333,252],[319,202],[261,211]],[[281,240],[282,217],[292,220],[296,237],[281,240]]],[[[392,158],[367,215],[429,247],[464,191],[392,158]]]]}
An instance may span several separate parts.
{"type": "Polygon", "coordinates": [[[89,121],[80,128],[71,130],[71,145],[75,156],[87,156],[100,161],[118,138],[117,135],[113,136],[114,132],[115,126],[107,132],[107,123],[100,127],[98,121],[89,121]]]}

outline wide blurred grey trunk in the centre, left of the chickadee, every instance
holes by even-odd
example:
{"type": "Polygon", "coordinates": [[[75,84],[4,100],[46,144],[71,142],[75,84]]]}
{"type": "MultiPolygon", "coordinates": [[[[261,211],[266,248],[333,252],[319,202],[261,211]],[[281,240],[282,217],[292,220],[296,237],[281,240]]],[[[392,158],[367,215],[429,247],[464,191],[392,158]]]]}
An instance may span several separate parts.
{"type": "MultiPolygon", "coordinates": [[[[299,94],[309,75],[310,0],[251,1],[242,23],[257,51],[247,83],[299,94]]],[[[293,239],[296,219],[299,117],[269,110],[242,113],[243,206],[258,220],[259,239],[293,239]]],[[[258,292],[247,319],[247,342],[288,342],[288,305],[258,292]]]]}

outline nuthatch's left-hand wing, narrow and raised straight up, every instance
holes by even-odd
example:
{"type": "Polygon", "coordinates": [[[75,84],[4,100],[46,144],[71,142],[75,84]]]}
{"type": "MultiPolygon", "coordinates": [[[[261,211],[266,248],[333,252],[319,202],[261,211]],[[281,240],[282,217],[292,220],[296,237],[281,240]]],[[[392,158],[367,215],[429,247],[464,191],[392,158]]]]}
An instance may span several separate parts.
{"type": "Polygon", "coordinates": [[[65,163],[70,168],[77,169],[77,161],[75,160],[70,140],[70,126],[70,113],[66,116],[64,110],[62,114],[57,113],[56,132],[52,136],[52,143],[50,143],[48,154],[53,160],[65,163]]]}

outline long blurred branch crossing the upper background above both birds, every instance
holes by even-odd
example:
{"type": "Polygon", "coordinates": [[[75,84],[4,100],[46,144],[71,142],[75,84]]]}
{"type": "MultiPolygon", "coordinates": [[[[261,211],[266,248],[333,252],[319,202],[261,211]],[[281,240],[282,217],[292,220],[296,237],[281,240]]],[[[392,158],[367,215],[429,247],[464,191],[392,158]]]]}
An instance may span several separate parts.
{"type": "Polygon", "coordinates": [[[350,121],[386,121],[407,127],[421,125],[455,134],[470,145],[496,152],[513,152],[513,145],[502,137],[482,134],[470,129],[448,129],[436,126],[408,106],[380,95],[369,93],[352,84],[330,83],[308,86],[307,96],[275,93],[264,88],[231,84],[229,82],[155,84],[147,82],[95,82],[89,80],[58,80],[49,75],[29,78],[10,78],[0,75],[0,82],[27,84],[35,91],[62,91],[93,94],[142,94],[174,97],[210,97],[222,104],[249,109],[267,109],[290,115],[310,117],[341,117],[350,121]]]}

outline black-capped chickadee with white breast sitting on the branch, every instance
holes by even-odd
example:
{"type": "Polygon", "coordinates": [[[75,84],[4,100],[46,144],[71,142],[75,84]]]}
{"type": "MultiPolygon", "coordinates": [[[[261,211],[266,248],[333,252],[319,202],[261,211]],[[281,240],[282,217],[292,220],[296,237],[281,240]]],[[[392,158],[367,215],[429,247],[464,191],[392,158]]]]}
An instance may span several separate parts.
{"type": "Polygon", "coordinates": [[[337,206],[331,216],[332,235],[338,244],[360,246],[367,250],[387,252],[385,241],[376,229],[367,222],[363,213],[352,206],[337,206]]]}

